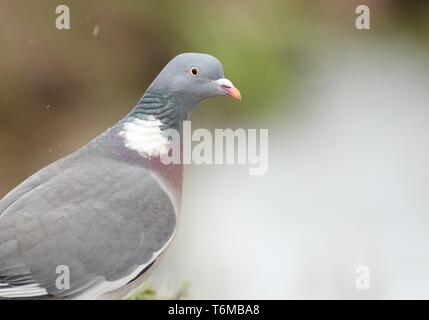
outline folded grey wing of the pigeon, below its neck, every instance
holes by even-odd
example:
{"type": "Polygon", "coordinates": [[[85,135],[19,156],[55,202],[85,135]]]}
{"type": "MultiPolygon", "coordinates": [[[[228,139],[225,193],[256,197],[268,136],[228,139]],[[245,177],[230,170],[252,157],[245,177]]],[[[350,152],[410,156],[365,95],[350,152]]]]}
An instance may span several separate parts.
{"type": "Polygon", "coordinates": [[[74,163],[0,216],[0,296],[14,287],[73,298],[119,281],[152,262],[175,224],[169,196],[147,169],[100,158],[74,163]],[[59,266],[70,271],[69,288],[56,285],[59,266]]]}

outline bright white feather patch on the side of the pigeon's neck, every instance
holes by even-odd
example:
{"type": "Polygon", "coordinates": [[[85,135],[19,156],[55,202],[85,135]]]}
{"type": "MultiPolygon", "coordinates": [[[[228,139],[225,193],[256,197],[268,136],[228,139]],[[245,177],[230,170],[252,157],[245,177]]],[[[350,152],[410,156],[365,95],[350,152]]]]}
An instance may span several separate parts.
{"type": "Polygon", "coordinates": [[[169,150],[168,138],[162,134],[162,122],[149,118],[133,118],[124,124],[119,135],[124,138],[128,149],[137,151],[143,157],[166,154],[169,150]]]}

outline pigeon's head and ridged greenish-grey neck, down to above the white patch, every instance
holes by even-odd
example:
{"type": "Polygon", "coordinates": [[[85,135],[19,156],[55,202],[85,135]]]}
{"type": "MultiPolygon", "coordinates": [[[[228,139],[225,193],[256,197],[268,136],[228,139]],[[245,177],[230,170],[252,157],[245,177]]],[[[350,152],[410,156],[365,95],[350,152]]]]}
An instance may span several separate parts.
{"type": "Polygon", "coordinates": [[[164,128],[177,127],[199,102],[215,96],[241,100],[240,91],[225,78],[218,59],[208,54],[182,53],[168,62],[130,115],[159,119],[164,128]]]}

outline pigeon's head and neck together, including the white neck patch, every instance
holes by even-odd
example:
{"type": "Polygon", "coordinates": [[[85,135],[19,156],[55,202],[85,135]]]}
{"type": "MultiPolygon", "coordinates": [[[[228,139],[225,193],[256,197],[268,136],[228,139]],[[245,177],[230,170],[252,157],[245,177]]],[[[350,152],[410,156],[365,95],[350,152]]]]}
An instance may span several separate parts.
{"type": "Polygon", "coordinates": [[[169,129],[182,133],[195,106],[210,97],[241,100],[240,91],[225,78],[222,64],[208,54],[183,53],[173,58],[119,124],[128,149],[145,157],[168,152],[169,129]]]}

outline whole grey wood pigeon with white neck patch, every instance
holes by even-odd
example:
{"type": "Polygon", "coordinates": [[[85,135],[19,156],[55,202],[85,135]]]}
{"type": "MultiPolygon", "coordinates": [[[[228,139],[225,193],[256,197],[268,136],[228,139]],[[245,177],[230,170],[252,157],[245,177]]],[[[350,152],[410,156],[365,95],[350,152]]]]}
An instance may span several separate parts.
{"type": "Polygon", "coordinates": [[[180,54],[125,118],[1,199],[0,298],[115,298],[144,281],[181,207],[166,133],[222,95],[241,99],[218,59],[180,54]]]}

